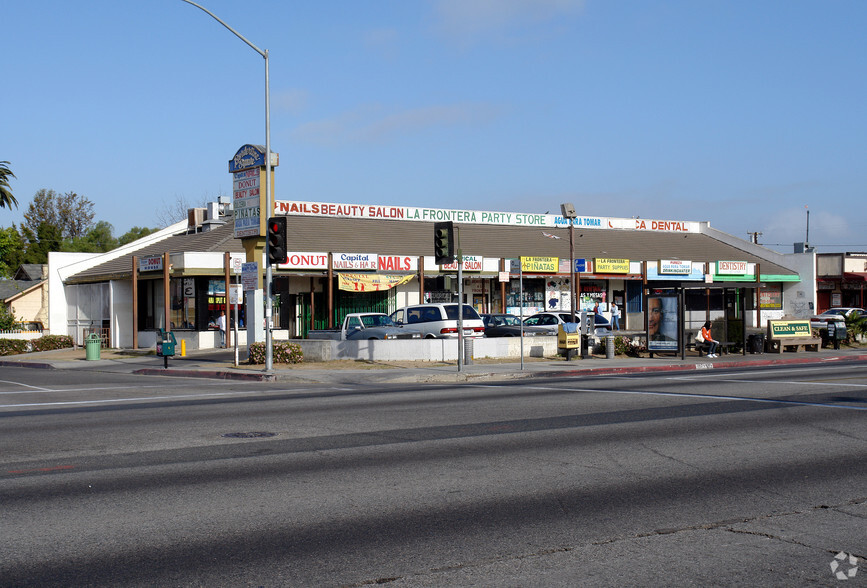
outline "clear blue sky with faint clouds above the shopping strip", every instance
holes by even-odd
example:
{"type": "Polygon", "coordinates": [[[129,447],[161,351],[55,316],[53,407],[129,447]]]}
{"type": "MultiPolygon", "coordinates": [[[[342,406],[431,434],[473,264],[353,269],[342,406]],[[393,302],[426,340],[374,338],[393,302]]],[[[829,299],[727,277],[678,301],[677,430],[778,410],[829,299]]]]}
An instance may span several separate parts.
{"type": "MultiPolygon", "coordinates": [[[[863,0],[201,0],[270,52],[275,196],[709,221],[867,251],[863,0]]],[[[23,220],[115,235],[231,195],[264,60],[181,0],[3,8],[0,160],[23,220]]]]}

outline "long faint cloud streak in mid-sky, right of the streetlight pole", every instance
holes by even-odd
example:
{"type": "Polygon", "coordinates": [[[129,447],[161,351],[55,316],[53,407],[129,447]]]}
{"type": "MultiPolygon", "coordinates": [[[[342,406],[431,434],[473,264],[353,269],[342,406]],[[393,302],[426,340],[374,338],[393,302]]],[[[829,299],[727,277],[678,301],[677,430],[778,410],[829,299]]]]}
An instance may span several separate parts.
{"type": "Polygon", "coordinates": [[[383,113],[364,106],[334,118],[311,121],[296,128],[296,140],[320,145],[384,143],[431,129],[470,127],[497,118],[502,108],[490,104],[448,104],[383,113]]]}

